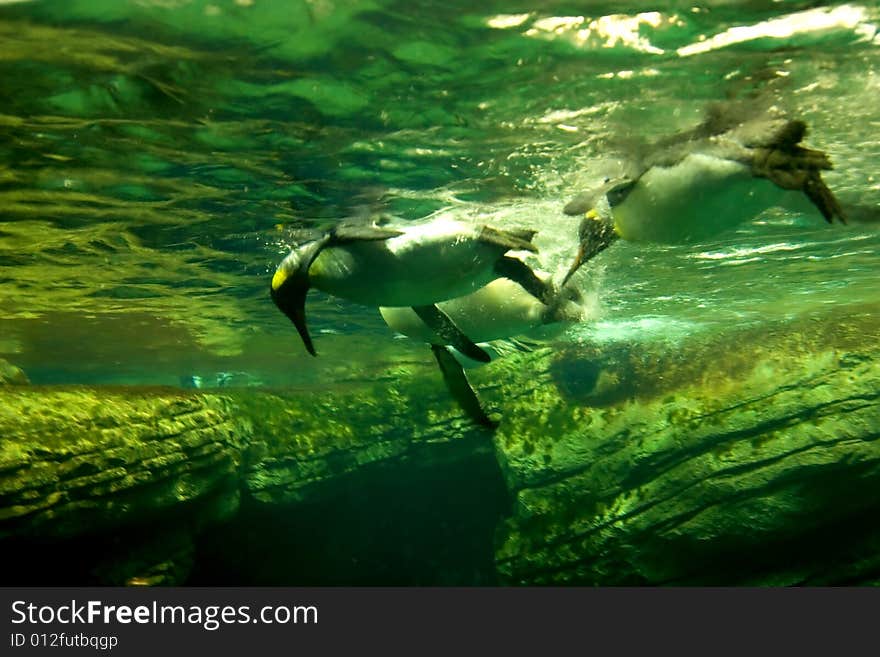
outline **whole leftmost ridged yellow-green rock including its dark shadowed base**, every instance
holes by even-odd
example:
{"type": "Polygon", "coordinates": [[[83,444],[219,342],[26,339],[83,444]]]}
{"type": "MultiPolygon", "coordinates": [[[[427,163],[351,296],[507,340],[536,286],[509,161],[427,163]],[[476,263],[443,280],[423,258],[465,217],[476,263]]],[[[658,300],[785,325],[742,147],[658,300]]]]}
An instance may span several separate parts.
{"type": "Polygon", "coordinates": [[[238,508],[250,427],[231,411],[162,389],[0,390],[0,545],[16,576],[182,582],[192,537],[238,508]]]}

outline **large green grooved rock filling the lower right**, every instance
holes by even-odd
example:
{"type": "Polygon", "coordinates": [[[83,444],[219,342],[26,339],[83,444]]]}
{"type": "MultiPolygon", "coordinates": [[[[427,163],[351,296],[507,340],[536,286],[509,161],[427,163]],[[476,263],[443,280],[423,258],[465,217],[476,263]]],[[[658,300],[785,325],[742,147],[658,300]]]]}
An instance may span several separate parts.
{"type": "Polygon", "coordinates": [[[511,381],[496,446],[516,496],[498,536],[501,581],[876,580],[872,316],[814,317],[653,352],[642,345],[637,358],[603,363],[619,370],[607,373],[622,387],[613,403],[609,390],[591,400],[589,386],[572,397],[572,386],[557,385],[566,368],[552,354],[510,363],[510,377],[496,374],[511,381]]]}

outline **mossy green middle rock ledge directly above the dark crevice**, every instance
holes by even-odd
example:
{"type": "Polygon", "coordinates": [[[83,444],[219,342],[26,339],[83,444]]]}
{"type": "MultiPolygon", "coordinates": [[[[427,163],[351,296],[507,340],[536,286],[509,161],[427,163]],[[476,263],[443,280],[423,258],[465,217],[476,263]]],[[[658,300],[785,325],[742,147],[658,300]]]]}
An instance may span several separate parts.
{"type": "Polygon", "coordinates": [[[352,390],[239,395],[255,436],[248,494],[261,504],[311,502],[337,494],[369,466],[442,467],[491,449],[489,434],[462,416],[430,365],[352,390]]]}

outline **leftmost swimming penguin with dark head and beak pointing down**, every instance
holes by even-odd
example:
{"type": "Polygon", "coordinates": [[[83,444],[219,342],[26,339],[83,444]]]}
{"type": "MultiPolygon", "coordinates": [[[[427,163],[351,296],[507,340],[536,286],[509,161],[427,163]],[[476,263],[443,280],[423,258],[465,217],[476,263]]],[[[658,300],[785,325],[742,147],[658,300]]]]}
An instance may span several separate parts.
{"type": "Polygon", "coordinates": [[[272,277],[275,305],[296,326],[306,349],[315,349],[305,318],[310,287],[369,306],[407,306],[425,324],[475,360],[489,355],[435,305],[463,296],[499,277],[537,299],[552,289],[510,250],[537,252],[536,231],[503,231],[441,216],[391,228],[340,225],[297,246],[272,277]]]}

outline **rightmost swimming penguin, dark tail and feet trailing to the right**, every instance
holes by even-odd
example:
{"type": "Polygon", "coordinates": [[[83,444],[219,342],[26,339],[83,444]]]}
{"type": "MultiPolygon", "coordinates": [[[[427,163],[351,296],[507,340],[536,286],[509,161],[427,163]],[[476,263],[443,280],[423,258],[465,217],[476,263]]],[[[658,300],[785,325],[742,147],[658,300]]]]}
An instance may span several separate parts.
{"type": "MultiPolygon", "coordinates": [[[[804,200],[829,223],[845,223],[822,180],[831,161],[801,145],[806,132],[800,120],[744,118],[742,108],[715,105],[699,126],[656,142],[626,174],[579,194],[564,212],[584,215],[583,237],[597,235],[601,248],[617,237],[665,243],[709,237],[771,206],[803,209],[804,200]]],[[[572,271],[598,250],[579,254],[572,271]]]]}

